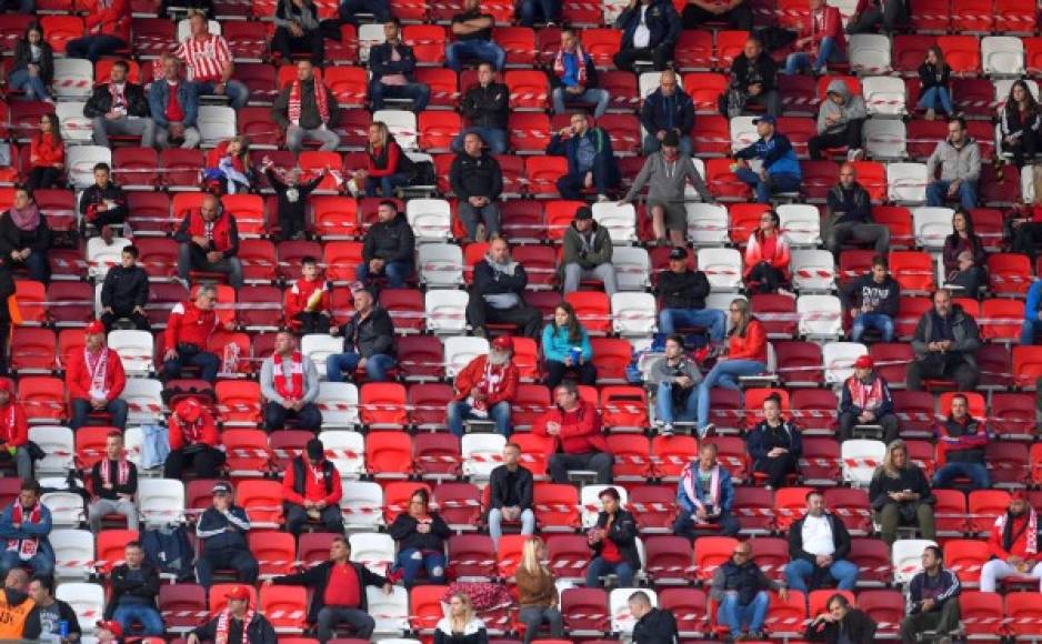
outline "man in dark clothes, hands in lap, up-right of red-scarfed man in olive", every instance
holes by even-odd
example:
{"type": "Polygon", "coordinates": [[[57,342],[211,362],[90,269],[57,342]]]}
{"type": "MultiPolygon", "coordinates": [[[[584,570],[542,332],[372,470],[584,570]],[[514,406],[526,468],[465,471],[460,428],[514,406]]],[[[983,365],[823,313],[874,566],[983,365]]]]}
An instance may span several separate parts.
{"type": "Polygon", "coordinates": [[[401,40],[401,21],[391,18],[383,22],[384,41],[369,50],[369,100],[372,111],[383,109],[383,99],[409,99],[412,111],[422,112],[431,99],[431,88],[417,82],[413,76],[417,57],[412,48],[401,40]]]}

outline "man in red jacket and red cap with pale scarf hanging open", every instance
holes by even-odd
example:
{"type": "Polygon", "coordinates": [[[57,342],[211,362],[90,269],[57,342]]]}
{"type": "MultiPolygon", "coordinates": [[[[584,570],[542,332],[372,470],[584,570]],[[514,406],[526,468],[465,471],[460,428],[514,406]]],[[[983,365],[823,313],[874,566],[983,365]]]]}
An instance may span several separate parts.
{"type": "Polygon", "coordinates": [[[127,429],[127,401],[119,398],[127,384],[119,353],[104,345],[104,324],[87,325],[83,351],[74,351],[66,370],[66,388],[72,406],[73,430],[87,424],[91,413],[112,415],[112,426],[127,429]]]}

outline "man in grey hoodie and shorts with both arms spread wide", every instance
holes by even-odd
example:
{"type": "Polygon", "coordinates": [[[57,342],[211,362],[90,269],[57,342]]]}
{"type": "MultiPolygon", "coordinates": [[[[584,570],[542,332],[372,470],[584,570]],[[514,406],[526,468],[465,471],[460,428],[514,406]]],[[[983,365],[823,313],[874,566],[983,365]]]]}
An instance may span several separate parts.
{"type": "Polygon", "coordinates": [[[688,211],[684,209],[688,181],[703,202],[712,202],[713,197],[691,157],[680,151],[681,139],[677,132],[667,131],[658,142],[661,148],[648,157],[630,191],[619,203],[637,201],[640,191],[647,185],[648,211],[651,213],[655,240],[664,242],[668,233],[670,243],[682,246],[688,234],[688,211]]]}

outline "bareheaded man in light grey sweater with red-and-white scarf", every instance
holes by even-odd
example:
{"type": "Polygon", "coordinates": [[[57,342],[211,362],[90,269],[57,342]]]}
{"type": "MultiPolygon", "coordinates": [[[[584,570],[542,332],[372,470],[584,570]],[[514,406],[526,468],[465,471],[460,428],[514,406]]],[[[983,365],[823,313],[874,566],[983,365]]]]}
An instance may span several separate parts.
{"type": "Polygon", "coordinates": [[[260,386],[269,432],[285,429],[288,420],[303,430],[317,432],[322,426],[322,412],[314,404],[319,372],[310,358],[300,354],[289,331],[275,335],[274,352],[261,363],[260,386]]]}

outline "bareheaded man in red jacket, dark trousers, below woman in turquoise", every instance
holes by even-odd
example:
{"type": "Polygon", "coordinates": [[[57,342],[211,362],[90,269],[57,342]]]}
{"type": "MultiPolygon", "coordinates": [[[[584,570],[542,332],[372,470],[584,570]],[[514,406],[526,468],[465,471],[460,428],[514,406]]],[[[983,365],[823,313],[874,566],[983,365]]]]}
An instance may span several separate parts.
{"type": "Polygon", "coordinates": [[[554,390],[557,404],[535,423],[534,432],[554,439],[554,453],[550,455],[550,477],[554,483],[568,483],[570,470],[597,472],[597,483],[611,483],[614,463],[608,453],[608,442],[601,434],[601,415],[597,407],[579,398],[579,388],[565,382],[554,390]]]}

